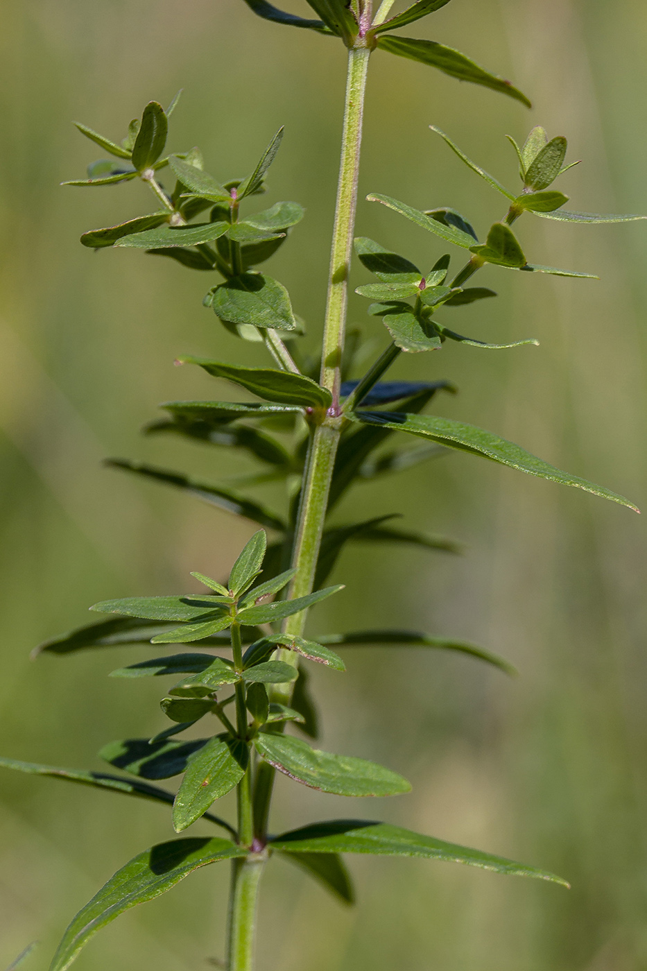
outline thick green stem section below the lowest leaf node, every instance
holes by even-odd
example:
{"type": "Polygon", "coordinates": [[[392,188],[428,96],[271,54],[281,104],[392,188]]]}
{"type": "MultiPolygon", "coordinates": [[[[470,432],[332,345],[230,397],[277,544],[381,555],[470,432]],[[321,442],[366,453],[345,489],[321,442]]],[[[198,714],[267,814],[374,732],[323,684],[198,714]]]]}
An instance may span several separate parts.
{"type": "Polygon", "coordinates": [[[227,971],[252,971],[258,885],[266,854],[252,853],[231,861],[227,921],[227,971]]]}

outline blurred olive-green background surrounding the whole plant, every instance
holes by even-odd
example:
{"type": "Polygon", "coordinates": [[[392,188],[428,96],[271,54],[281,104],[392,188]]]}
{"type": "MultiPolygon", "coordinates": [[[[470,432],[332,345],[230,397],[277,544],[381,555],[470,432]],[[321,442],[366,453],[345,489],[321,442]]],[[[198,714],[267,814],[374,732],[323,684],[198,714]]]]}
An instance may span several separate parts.
{"type": "MultiPolygon", "coordinates": [[[[284,6],[305,9],[300,0],[284,6]]],[[[99,599],[192,588],[189,570],[220,576],[253,531],[102,470],[100,459],[146,458],[213,478],[249,468],[224,451],[142,440],[138,429],[159,401],[223,390],[195,370],[174,369],[177,354],[265,358],[201,307],[206,275],[79,245],[86,229],[150,211],[151,201],[141,184],[59,188],[83,178],[100,154],[70,120],[120,138],[147,101],[168,103],[184,87],[169,146],[199,144],[221,179],[249,171],[285,123],[266,198],[298,200],[307,218],[268,270],[289,286],[314,348],[344,52],[254,17],[242,0],[5,0],[2,22],[0,751],[98,769],[105,742],[161,727],[158,689],[106,679],[134,659],[132,650],[36,665],[29,650],[85,622],[99,599]]],[[[459,47],[511,77],[534,107],[378,52],[362,198],[382,191],[420,208],[452,205],[483,233],[501,217],[501,200],[427,125],[514,184],[504,134],[523,140],[541,123],[567,135],[571,160],[584,159],[559,186],[572,208],[647,211],[644,3],[454,0],[405,33],[459,47]]],[[[441,253],[376,205],[360,204],[358,232],[425,267],[441,253]]],[[[644,506],[645,226],[528,217],[520,236],[533,261],[601,281],[486,269],[479,285],[494,285],[498,300],[455,312],[452,325],[485,340],[534,336],[541,346],[446,346],[401,358],[393,374],[452,379],[460,395],[439,402],[441,414],[490,428],[644,506]]],[[[358,297],[351,320],[379,350],[385,332],[358,297]]],[[[346,653],[344,677],[314,672],[323,748],[374,757],[416,785],[400,799],[351,806],[282,779],[274,827],[383,818],[557,871],[573,888],[425,861],[352,859],[359,906],[349,911],[278,861],[263,888],[258,971],[644,968],[644,517],[455,455],[358,487],[338,519],[396,511],[405,525],[464,541],[466,555],[345,552],[335,580],[347,589],[317,609],[310,630],[385,624],[470,638],[509,658],[521,677],[454,655],[365,649],[346,653]]],[[[34,939],[41,948],[25,971],[47,967],[96,888],[171,836],[169,816],[153,805],[4,772],[0,967],[34,939]]],[[[87,948],[80,971],[206,967],[208,955],[223,953],[226,885],[224,867],[207,868],[131,912],[87,948]]]]}

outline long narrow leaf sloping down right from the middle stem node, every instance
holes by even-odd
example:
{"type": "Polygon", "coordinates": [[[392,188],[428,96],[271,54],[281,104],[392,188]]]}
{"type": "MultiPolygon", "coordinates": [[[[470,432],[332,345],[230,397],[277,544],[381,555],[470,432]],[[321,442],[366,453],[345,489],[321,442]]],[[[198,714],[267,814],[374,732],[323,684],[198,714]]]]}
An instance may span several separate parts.
{"type": "Polygon", "coordinates": [[[618,502],[622,506],[628,506],[638,512],[629,499],[625,499],[616,492],[611,492],[601,485],[590,483],[586,479],[580,479],[578,476],[562,472],[561,469],[557,469],[554,465],[537,458],[536,455],[526,452],[520,446],[508,442],[504,438],[499,438],[498,435],[493,435],[492,432],[485,431],[483,428],[477,428],[475,425],[463,424],[461,421],[452,419],[441,419],[434,415],[401,415],[389,412],[357,412],[355,415],[349,415],[348,418],[354,421],[383,425],[393,431],[406,431],[411,435],[431,439],[449,449],[459,449],[475,455],[482,455],[484,458],[491,458],[501,465],[508,465],[520,472],[528,472],[529,475],[538,476],[540,479],[549,479],[551,482],[573,485],[575,488],[584,489],[585,492],[593,492],[594,495],[610,499],[612,502],[618,502]]]}

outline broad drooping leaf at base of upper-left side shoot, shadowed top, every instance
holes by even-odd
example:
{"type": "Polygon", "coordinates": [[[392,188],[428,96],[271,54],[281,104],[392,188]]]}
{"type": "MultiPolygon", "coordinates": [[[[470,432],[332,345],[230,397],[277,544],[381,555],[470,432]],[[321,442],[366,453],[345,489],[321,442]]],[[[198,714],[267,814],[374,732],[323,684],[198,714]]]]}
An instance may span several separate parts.
{"type": "Polygon", "coordinates": [[[211,306],[218,317],[231,323],[298,329],[286,287],[260,273],[244,273],[218,286],[211,306]]]}

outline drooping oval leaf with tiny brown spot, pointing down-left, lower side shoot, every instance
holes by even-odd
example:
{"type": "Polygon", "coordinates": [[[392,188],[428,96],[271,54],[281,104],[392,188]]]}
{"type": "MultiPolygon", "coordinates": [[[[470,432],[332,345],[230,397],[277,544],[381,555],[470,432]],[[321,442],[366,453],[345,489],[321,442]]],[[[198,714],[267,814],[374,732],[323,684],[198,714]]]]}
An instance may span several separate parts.
{"type": "Polygon", "coordinates": [[[210,806],[238,785],[247,769],[249,750],[238,739],[217,735],[191,759],[173,805],[176,832],[199,820],[210,806]]]}

